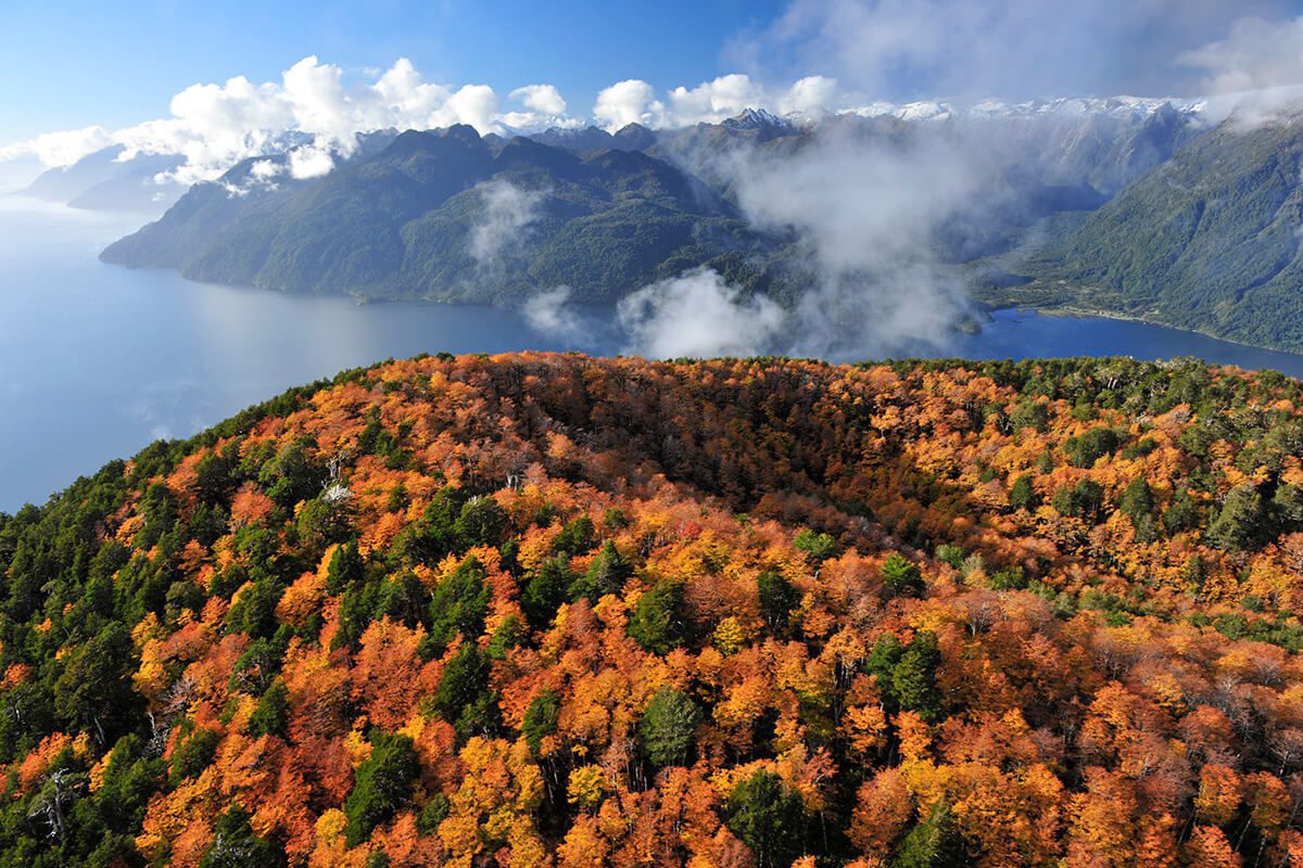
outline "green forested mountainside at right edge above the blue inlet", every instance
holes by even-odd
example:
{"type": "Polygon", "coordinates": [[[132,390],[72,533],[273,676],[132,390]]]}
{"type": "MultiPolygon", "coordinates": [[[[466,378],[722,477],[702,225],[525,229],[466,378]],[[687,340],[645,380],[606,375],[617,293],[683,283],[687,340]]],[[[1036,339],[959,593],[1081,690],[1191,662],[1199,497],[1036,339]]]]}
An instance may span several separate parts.
{"type": "Polygon", "coordinates": [[[1037,254],[1052,299],[1303,347],[1303,120],[1199,137],[1037,254]]]}

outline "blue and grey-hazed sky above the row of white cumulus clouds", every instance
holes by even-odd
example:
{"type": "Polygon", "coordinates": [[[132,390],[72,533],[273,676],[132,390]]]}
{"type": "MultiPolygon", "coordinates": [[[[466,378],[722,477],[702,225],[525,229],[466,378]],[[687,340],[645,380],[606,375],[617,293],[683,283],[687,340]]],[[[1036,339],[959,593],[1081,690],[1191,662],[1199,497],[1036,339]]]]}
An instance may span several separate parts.
{"type": "Polygon", "coordinates": [[[779,108],[805,75],[827,79],[823,108],[1303,85],[1303,0],[0,0],[0,148],[165,118],[197,83],[279,85],[309,56],[358,82],[407,57],[425,82],[493,87],[502,112],[552,85],[576,121],[623,79],[648,85],[620,118],[711,117],[710,94],[668,91],[734,72],[779,108]]]}

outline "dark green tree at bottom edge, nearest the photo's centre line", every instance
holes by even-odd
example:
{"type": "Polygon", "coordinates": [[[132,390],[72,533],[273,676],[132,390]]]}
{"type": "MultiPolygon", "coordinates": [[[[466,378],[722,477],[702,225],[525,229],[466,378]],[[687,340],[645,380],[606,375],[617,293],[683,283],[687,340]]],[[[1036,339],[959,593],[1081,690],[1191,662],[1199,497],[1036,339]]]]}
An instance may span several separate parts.
{"type": "Polygon", "coordinates": [[[805,852],[805,803],[771,772],[737,782],[724,822],[751,847],[758,868],[787,868],[805,852]]]}

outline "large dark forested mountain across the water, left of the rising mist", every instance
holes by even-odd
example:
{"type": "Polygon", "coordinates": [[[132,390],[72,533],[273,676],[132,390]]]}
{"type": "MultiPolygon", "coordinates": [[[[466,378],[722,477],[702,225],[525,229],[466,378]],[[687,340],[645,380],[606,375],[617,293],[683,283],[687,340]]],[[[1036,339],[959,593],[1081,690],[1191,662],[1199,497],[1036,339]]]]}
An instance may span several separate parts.
{"type": "Polygon", "coordinates": [[[357,298],[507,301],[566,285],[610,299],[701,264],[747,280],[739,265],[777,243],[645,154],[577,155],[453,126],[408,130],[322,178],[248,160],[102,258],[357,298]]]}

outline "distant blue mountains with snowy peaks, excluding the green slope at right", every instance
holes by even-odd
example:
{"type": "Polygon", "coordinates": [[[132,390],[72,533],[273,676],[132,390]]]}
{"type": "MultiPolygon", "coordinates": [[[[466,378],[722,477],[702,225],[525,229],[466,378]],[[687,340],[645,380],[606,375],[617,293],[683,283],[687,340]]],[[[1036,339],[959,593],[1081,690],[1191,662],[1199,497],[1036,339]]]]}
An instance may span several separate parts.
{"type": "Polygon", "coordinates": [[[926,135],[969,147],[999,138],[986,195],[932,239],[947,262],[967,262],[1048,213],[1097,207],[1197,129],[1191,109],[1167,103],[1020,109],[998,121],[990,108],[963,122],[909,117],[747,111],[681,130],[509,139],[457,126],[380,141],[313,180],[292,178],[279,157],[254,157],[197,185],[103,259],[283,292],[494,302],[559,285],[612,301],[708,265],[744,292],[791,303],[810,281],[801,238],[748,221],[719,170],[730,155],[792,155],[831,135],[899,148],[926,135]]]}

